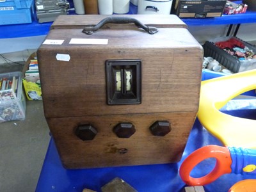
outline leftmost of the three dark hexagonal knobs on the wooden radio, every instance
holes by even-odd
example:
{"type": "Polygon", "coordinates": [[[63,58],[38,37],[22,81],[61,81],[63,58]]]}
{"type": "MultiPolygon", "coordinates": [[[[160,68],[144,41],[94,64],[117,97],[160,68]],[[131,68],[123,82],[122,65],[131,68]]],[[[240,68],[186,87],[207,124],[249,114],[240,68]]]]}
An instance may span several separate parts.
{"type": "Polygon", "coordinates": [[[93,140],[98,133],[97,129],[92,125],[78,125],[76,136],[83,141],[93,140]]]}

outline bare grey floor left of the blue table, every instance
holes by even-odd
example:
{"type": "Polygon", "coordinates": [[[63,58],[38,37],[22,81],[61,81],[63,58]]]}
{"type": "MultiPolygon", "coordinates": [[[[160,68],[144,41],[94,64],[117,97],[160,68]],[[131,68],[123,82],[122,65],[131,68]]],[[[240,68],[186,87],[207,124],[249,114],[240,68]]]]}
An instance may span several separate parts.
{"type": "MultiPolygon", "coordinates": [[[[0,73],[21,68],[1,65],[0,73]]],[[[26,102],[26,120],[0,124],[0,191],[35,191],[49,140],[42,101],[26,102]]]]}

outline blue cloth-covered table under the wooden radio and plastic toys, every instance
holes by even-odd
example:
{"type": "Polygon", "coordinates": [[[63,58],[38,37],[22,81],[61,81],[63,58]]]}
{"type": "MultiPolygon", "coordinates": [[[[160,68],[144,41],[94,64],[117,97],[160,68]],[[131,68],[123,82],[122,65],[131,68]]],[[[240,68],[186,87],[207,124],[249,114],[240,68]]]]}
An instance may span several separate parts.
{"type": "MultiPolygon", "coordinates": [[[[231,100],[221,111],[233,116],[256,119],[256,99],[231,100]]],[[[115,177],[124,179],[138,191],[182,191],[186,185],[179,177],[180,163],[197,148],[211,144],[221,145],[196,119],[179,163],[66,170],[61,164],[54,141],[51,140],[36,191],[71,192],[83,191],[83,188],[100,191],[104,184],[115,177]]],[[[207,159],[193,169],[191,176],[202,177],[214,165],[215,159],[207,159]]],[[[204,186],[204,189],[227,192],[233,184],[244,179],[256,179],[256,175],[222,175],[218,180],[204,186]]]]}

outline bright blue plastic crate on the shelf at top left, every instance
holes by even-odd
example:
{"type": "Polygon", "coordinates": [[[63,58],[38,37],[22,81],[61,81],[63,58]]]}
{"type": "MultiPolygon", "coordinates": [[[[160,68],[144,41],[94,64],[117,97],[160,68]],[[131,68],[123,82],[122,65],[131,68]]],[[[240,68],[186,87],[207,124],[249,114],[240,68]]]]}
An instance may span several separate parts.
{"type": "Polygon", "coordinates": [[[0,0],[0,25],[32,22],[34,0],[0,0]]]}

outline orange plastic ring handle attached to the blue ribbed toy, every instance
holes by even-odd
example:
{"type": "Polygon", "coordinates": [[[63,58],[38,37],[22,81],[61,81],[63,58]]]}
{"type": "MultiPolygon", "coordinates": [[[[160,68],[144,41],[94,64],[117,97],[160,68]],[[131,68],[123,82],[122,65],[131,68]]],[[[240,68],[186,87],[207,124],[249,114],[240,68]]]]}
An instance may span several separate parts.
{"type": "Polygon", "coordinates": [[[225,173],[231,173],[231,164],[232,159],[227,147],[207,145],[190,154],[181,164],[179,173],[181,179],[189,186],[204,186],[225,173]],[[209,174],[200,178],[189,175],[198,163],[212,157],[216,159],[216,164],[209,174]]]}

